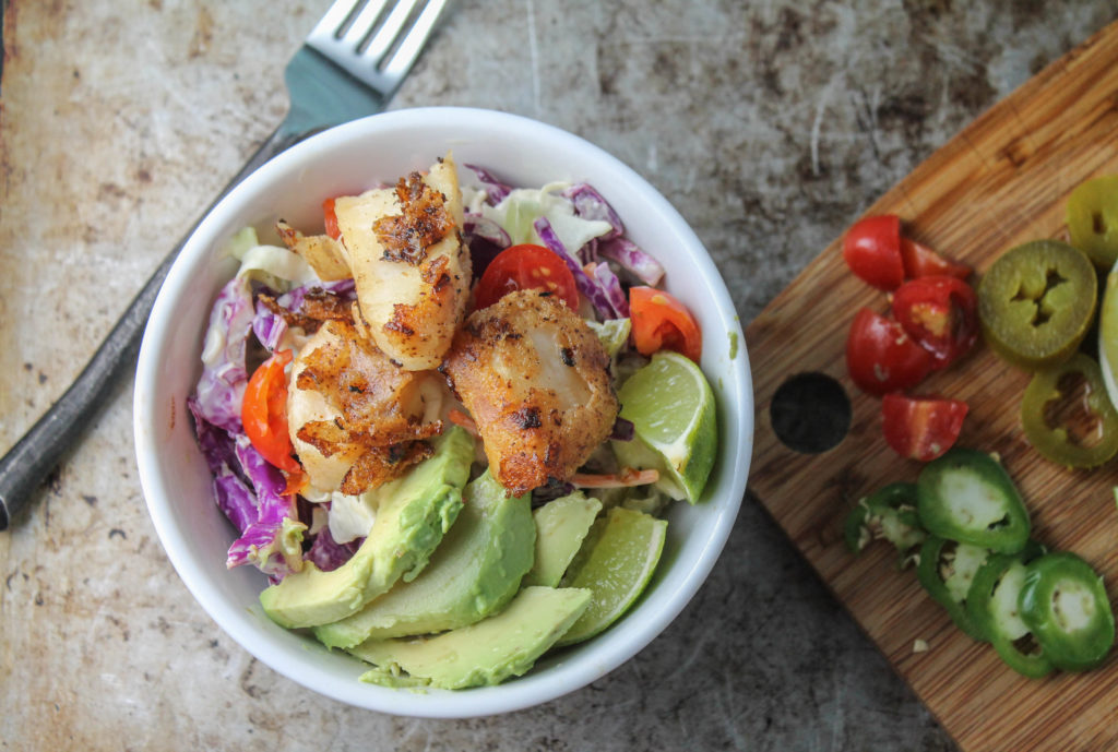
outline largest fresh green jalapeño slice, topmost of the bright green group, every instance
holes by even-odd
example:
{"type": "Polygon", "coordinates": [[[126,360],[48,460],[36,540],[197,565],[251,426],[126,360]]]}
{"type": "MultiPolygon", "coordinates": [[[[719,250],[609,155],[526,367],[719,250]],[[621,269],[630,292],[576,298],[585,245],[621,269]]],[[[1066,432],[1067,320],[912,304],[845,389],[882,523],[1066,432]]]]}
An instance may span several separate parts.
{"type": "Polygon", "coordinates": [[[917,514],[932,535],[996,553],[1016,553],[1029,540],[1029,511],[1001,463],[954,447],[923,466],[917,514]]]}

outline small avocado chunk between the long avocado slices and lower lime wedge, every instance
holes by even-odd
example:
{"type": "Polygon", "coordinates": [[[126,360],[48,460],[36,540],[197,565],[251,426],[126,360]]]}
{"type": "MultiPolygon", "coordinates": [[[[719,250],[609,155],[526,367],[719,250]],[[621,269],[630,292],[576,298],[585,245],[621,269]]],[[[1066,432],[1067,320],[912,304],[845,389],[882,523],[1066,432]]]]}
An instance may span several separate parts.
{"type": "Polygon", "coordinates": [[[576,491],[532,512],[536,562],[524,577],[524,584],[557,587],[600,511],[601,502],[576,491]]]}

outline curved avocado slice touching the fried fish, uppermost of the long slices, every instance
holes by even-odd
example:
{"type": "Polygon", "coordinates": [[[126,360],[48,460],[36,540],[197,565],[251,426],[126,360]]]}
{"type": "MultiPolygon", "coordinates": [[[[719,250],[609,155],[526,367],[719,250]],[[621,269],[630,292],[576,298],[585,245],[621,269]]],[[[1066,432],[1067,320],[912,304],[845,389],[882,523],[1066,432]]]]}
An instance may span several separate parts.
{"type": "Polygon", "coordinates": [[[330,572],[304,562],[260,593],[264,612],[287,628],[330,624],[415,578],[462,508],[473,457],[473,438],[456,426],[436,439],[434,455],[377,488],[377,518],[352,559],[330,572]]]}

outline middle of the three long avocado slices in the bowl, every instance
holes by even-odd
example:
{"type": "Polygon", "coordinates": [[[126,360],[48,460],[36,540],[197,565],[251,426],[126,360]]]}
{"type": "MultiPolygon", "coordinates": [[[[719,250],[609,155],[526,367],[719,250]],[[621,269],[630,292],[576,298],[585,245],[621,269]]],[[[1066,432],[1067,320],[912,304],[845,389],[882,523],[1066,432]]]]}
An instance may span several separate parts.
{"type": "Polygon", "coordinates": [[[349,648],[370,638],[457,629],[504,608],[534,556],[528,495],[509,496],[485,470],[462,497],[457,521],[423,574],[397,582],[351,617],[315,627],[314,636],[328,647],[349,648]]]}

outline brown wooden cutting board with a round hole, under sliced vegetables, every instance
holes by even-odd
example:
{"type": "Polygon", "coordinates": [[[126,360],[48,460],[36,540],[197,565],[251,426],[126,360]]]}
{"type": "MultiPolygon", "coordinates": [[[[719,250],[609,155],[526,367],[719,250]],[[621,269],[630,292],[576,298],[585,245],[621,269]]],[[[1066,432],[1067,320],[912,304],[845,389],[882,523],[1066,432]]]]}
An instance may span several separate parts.
{"type": "MultiPolygon", "coordinates": [[[[980,275],[1010,247],[1065,237],[1064,204],[1082,180],[1118,173],[1118,23],[1069,53],[979,117],[881,198],[868,213],[897,213],[909,235],[980,275]]],[[[1118,749],[1118,649],[1099,669],[1026,679],[967,638],[880,542],[847,553],[842,525],[856,499],[919,464],[881,435],[880,400],[846,375],[844,346],[862,306],[888,310],[831,244],[749,325],[756,389],[750,488],[862,629],[968,752],[1118,749]],[[799,454],[773,430],[774,392],[794,374],[837,380],[852,403],[845,438],[799,454]],[[913,651],[916,640],[928,650],[913,651]]],[[[996,451],[1030,507],[1034,536],[1087,559],[1118,603],[1118,460],[1062,469],[1025,440],[1018,421],[1029,375],[979,348],[919,389],[970,406],[960,445],[996,451]]]]}

